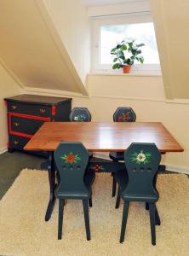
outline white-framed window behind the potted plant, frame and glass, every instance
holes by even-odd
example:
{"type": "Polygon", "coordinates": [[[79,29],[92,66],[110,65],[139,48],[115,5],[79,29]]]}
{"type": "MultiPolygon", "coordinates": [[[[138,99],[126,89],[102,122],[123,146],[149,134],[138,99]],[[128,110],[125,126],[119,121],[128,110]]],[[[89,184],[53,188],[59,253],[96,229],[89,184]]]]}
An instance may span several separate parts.
{"type": "MultiPolygon", "coordinates": [[[[92,70],[113,72],[111,49],[123,39],[134,39],[141,48],[144,63],[132,68],[132,73],[161,73],[158,48],[152,18],[149,13],[95,18],[93,27],[92,70]]],[[[114,71],[120,72],[122,71],[114,71]]]]}

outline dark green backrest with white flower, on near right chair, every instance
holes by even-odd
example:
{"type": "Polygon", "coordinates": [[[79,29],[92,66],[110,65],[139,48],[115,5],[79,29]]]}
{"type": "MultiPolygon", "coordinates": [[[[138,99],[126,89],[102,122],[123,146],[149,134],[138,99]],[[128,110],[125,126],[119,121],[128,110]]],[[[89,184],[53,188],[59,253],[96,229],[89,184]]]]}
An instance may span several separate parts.
{"type": "Polygon", "coordinates": [[[158,200],[158,192],[153,187],[153,179],[161,161],[157,146],[154,143],[132,143],[124,152],[124,160],[129,180],[123,195],[158,200]]]}

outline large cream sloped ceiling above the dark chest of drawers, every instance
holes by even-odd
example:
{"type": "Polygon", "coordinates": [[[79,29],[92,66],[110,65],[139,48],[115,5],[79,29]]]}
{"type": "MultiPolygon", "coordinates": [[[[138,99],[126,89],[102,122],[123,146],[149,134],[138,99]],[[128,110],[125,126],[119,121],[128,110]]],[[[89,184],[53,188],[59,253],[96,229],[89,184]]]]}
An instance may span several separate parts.
{"type": "Polygon", "coordinates": [[[63,43],[47,22],[45,7],[40,8],[35,0],[1,0],[0,59],[26,87],[86,95],[63,43]]]}

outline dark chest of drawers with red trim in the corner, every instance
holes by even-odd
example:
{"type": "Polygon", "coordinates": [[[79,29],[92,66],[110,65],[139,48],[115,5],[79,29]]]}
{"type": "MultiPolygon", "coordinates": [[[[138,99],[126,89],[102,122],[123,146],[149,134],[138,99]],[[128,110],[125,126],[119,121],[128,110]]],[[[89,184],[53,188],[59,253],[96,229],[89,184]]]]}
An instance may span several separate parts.
{"type": "MultiPolygon", "coordinates": [[[[5,98],[5,101],[8,109],[9,152],[14,149],[24,151],[26,143],[43,122],[69,121],[72,110],[71,98],[24,94],[5,98]]],[[[47,152],[37,154],[48,156],[47,152]]]]}

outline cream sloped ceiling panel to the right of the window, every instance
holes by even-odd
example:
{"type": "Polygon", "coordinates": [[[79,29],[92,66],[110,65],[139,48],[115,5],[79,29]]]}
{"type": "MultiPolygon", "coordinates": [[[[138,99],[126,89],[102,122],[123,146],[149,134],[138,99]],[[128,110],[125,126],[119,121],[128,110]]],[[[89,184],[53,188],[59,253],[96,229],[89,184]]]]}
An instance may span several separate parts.
{"type": "Polygon", "coordinates": [[[189,1],[151,0],[163,83],[169,99],[189,99],[189,1]]]}

